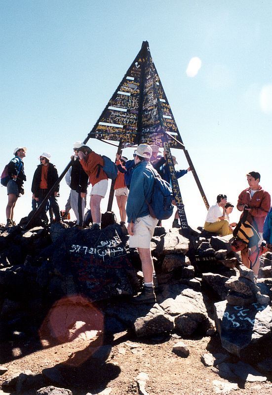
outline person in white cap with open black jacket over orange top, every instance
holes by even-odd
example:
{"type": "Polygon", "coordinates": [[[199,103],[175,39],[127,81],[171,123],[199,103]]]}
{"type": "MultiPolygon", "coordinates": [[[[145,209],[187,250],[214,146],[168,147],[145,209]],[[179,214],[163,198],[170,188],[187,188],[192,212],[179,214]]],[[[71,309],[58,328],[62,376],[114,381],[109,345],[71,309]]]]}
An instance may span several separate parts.
{"type": "MultiPolygon", "coordinates": [[[[52,163],[50,163],[50,158],[51,155],[48,152],[43,152],[40,155],[40,164],[35,170],[33,176],[31,191],[33,192],[33,198],[38,202],[38,207],[44,197],[47,195],[48,191],[52,188],[52,186],[59,178],[56,167],[52,163]]],[[[50,202],[50,207],[52,208],[55,215],[56,222],[60,222],[60,209],[57,201],[58,193],[59,184],[55,186],[52,195],[48,198],[50,202]]],[[[47,223],[48,219],[46,216],[45,205],[41,209],[40,217],[47,223]]]]}

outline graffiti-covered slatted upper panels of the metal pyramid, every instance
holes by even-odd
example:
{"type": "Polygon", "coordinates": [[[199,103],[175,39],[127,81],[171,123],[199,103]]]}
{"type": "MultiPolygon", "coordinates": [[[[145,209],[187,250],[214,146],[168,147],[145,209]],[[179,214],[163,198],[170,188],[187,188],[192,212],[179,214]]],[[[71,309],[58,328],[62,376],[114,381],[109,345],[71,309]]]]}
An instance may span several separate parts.
{"type": "MultiPolygon", "coordinates": [[[[89,134],[90,137],[121,141],[123,147],[139,141],[163,147],[163,143],[168,141],[165,130],[174,132],[175,138],[182,141],[150,50],[146,50],[141,50],[136,56],[99,118],[96,129],[89,134]]],[[[181,148],[174,140],[169,141],[169,144],[181,148]]]]}

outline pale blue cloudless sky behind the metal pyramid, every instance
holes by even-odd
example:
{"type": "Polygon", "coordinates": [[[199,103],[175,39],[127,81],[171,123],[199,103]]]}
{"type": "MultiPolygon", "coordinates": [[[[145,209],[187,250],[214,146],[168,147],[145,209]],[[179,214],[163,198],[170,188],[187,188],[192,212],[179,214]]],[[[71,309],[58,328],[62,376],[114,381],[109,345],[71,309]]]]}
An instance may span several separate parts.
{"type": "MultiPolygon", "coordinates": [[[[272,193],[271,20],[271,0],[1,0],[0,170],[15,147],[27,147],[14,219],[31,211],[39,156],[49,152],[63,171],[146,40],[210,205],[221,193],[236,205],[253,170],[272,193]]],[[[115,158],[111,145],[88,145],[115,158]]],[[[178,170],[188,167],[182,150],[172,154],[178,170]]],[[[189,225],[203,226],[207,210],[192,173],[179,185],[189,225]]],[[[68,196],[63,180],[61,209],[68,196]]],[[[6,203],[0,187],[0,223],[6,203]]],[[[238,217],[233,210],[231,220],[238,217]]]]}

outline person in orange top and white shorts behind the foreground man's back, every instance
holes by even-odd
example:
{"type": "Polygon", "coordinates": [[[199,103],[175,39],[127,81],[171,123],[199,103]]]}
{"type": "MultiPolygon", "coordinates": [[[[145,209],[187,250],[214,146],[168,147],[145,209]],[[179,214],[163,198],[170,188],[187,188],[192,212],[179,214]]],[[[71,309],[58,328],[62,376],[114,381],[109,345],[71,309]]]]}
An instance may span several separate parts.
{"type": "Polygon", "coordinates": [[[116,154],[116,164],[118,168],[118,174],[115,180],[114,190],[115,190],[117,206],[120,213],[120,219],[121,219],[120,225],[124,225],[126,220],[125,205],[128,197],[128,188],[124,180],[125,171],[126,171],[125,169],[126,161],[127,161],[126,157],[121,157],[121,155],[116,154]]]}

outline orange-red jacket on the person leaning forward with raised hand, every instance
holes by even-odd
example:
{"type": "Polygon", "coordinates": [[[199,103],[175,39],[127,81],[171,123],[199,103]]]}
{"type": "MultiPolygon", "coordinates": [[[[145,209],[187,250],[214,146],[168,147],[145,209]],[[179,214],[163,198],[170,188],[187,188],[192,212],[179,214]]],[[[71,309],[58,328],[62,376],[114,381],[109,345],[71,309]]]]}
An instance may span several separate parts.
{"type": "Polygon", "coordinates": [[[104,166],[103,158],[96,154],[95,152],[90,152],[85,158],[80,160],[80,164],[84,169],[85,173],[89,176],[89,182],[94,186],[101,180],[108,180],[107,174],[102,169],[101,166],[104,166]],[[99,171],[100,167],[100,171],[99,171]],[[99,175],[97,177],[97,173],[99,171],[99,175]]]}

